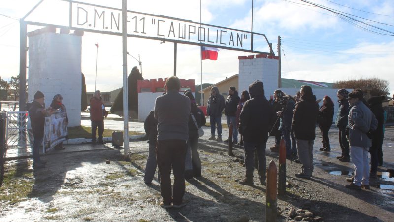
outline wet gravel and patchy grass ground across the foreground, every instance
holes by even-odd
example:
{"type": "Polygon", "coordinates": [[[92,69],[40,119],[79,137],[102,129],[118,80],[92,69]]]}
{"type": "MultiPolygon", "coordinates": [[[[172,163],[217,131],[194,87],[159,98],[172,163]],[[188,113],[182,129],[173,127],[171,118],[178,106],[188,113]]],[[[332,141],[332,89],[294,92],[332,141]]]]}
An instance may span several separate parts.
{"type": "MultiPolygon", "coordinates": [[[[209,129],[204,130],[199,143],[202,177],[186,182],[184,200],[188,204],[180,210],[159,207],[157,178],[152,185],[143,183],[147,143],[132,141],[130,161],[124,160],[122,149],[109,145],[73,151],[78,146],[92,146],[85,144],[49,153],[43,157],[48,161],[45,169],[33,171],[31,160],[8,162],[6,174],[15,174],[1,188],[0,221],[264,221],[266,187],[258,183],[257,172],[253,187],[236,182],[245,174],[242,164],[235,162],[243,158],[242,147],[234,146],[235,157],[230,157],[227,145],[208,141],[209,129]],[[18,184],[25,184],[24,192],[12,189],[18,184]]],[[[338,131],[332,129],[330,138],[333,150],[329,153],[319,151],[320,137],[315,140],[312,179],[295,178],[301,165],[287,161],[291,187],[278,199],[278,221],[293,220],[288,217],[291,208],[309,209],[321,221],[393,221],[394,181],[385,170],[394,168],[394,128],[386,128],[385,162],[379,167],[382,178],[371,180],[371,190],[344,187],[353,165],[335,159],[340,153],[338,131]]],[[[271,138],[267,144],[267,163],[273,160],[278,165],[278,154],[269,151],[273,143],[271,138]]]]}

